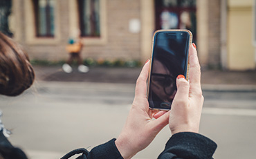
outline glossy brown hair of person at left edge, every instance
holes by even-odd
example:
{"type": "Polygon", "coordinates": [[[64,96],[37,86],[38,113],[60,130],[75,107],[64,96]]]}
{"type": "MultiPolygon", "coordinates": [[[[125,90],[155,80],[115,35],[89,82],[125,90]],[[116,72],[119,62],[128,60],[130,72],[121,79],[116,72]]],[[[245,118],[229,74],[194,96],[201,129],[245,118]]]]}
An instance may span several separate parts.
{"type": "Polygon", "coordinates": [[[0,94],[19,95],[33,84],[34,79],[26,52],[0,32],[0,94]]]}

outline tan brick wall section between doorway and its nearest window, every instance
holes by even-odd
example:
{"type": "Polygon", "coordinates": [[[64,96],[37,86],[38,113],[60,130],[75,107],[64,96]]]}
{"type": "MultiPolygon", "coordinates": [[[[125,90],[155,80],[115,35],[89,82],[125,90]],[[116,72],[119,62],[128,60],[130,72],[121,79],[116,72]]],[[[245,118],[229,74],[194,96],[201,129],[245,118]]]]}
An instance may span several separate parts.
{"type": "Polygon", "coordinates": [[[129,19],[140,18],[139,1],[107,1],[107,44],[103,46],[85,46],[87,57],[107,59],[140,58],[140,34],[129,32],[129,19]]]}

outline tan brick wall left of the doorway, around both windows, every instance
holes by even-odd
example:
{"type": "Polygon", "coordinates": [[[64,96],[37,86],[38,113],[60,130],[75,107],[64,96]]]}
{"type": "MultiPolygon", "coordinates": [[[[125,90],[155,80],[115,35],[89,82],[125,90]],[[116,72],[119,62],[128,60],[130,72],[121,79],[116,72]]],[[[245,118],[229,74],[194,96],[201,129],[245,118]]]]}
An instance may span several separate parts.
{"type": "MultiPolygon", "coordinates": [[[[21,0],[26,1],[26,0],[21,0]]],[[[59,0],[60,1],[60,0],[59,0]]],[[[103,45],[84,46],[82,57],[104,58],[104,59],[140,59],[140,33],[129,32],[129,20],[140,19],[140,1],[137,0],[107,0],[107,43],[103,45]]],[[[30,59],[62,60],[68,58],[65,46],[69,35],[68,0],[58,3],[60,40],[57,44],[27,44],[26,22],[22,21],[22,39],[30,59]]],[[[21,6],[25,12],[24,6],[21,6]]],[[[21,14],[21,15],[24,15],[21,14]]],[[[25,17],[26,18],[26,17],[25,17]]]]}

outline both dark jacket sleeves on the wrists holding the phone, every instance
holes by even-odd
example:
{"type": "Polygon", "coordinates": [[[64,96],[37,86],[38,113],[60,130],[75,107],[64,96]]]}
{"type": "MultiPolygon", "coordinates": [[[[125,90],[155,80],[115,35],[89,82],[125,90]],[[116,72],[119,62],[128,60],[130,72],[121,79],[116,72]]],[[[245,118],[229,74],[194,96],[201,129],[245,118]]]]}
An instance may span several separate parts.
{"type": "MultiPolygon", "coordinates": [[[[112,139],[105,144],[94,147],[89,152],[88,159],[122,159],[116,144],[112,139]]],[[[217,144],[199,133],[176,133],[165,145],[165,150],[158,159],[212,159],[217,144]]]]}

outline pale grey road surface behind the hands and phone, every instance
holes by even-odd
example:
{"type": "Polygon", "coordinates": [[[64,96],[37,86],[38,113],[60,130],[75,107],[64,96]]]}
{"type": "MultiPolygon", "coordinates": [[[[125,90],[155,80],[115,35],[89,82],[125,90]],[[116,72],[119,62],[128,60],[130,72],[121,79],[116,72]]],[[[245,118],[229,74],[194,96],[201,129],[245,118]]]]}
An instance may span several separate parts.
{"type": "MultiPolygon", "coordinates": [[[[255,158],[256,91],[203,91],[200,133],[218,144],[214,158],[255,158]]],[[[134,84],[37,82],[19,97],[0,97],[10,140],[31,159],[60,158],[117,138],[134,84]]],[[[165,127],[136,159],[157,158],[170,138],[165,127]]]]}

